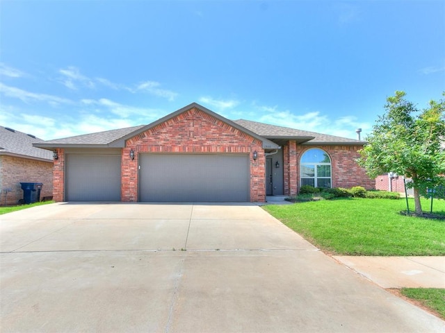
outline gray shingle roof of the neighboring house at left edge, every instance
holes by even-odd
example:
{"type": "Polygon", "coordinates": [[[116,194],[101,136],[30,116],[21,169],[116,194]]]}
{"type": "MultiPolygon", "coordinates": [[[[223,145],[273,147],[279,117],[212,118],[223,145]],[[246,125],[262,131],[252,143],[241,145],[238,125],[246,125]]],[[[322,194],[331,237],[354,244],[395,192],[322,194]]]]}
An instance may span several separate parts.
{"type": "Polygon", "coordinates": [[[33,143],[36,142],[43,142],[43,140],[18,130],[0,126],[0,155],[20,155],[52,162],[53,154],[51,151],[34,147],[33,143]]]}

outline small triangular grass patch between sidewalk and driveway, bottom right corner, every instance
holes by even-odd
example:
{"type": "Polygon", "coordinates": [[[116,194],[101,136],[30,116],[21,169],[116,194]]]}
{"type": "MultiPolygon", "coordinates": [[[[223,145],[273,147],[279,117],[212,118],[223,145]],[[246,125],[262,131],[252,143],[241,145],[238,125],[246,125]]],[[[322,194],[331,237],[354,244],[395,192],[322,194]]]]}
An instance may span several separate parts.
{"type": "Polygon", "coordinates": [[[445,289],[403,288],[403,296],[421,302],[445,319],[445,289]]]}

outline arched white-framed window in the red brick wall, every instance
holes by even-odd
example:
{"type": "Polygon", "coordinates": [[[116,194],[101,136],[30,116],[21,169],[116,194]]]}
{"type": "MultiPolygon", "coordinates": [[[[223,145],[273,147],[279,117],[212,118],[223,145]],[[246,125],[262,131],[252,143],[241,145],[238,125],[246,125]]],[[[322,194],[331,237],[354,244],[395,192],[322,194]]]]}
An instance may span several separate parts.
{"type": "Polygon", "coordinates": [[[331,159],[325,151],[312,148],[306,151],[300,160],[301,186],[331,187],[331,159]]]}

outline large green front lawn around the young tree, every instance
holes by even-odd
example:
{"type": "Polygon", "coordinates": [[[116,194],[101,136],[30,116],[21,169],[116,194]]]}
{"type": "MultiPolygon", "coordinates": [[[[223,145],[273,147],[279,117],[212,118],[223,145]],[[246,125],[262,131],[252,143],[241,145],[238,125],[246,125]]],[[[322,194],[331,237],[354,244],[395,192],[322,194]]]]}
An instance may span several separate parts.
{"type": "MultiPolygon", "coordinates": [[[[423,200],[423,210],[429,211],[429,203],[423,200]]],[[[445,220],[402,216],[404,199],[321,200],[264,209],[334,255],[445,255],[445,220]]],[[[445,200],[435,200],[433,212],[445,215],[445,200]]]]}

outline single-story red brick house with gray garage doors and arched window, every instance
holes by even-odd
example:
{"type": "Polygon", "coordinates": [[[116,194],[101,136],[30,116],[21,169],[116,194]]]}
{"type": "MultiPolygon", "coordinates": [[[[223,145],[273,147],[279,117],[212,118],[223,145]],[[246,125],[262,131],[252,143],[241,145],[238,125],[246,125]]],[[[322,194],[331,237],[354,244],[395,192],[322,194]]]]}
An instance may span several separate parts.
{"type": "Polygon", "coordinates": [[[192,103],[150,123],[34,144],[56,151],[56,201],[264,202],[301,185],[363,186],[365,142],[254,121],[192,103]]]}

